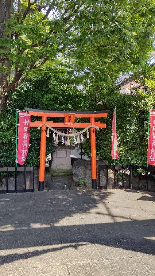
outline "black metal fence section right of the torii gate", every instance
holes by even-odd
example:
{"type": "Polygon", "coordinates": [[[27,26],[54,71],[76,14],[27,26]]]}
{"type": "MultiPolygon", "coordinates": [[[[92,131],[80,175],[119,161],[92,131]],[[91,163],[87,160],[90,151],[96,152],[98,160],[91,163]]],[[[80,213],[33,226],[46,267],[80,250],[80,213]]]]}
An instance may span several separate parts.
{"type": "Polygon", "coordinates": [[[98,188],[155,191],[155,167],[99,165],[98,188]]]}

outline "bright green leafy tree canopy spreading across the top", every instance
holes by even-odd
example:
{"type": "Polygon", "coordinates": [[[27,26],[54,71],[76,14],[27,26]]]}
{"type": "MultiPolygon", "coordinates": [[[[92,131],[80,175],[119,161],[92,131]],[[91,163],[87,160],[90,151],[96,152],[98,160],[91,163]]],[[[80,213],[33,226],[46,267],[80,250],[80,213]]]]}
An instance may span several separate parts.
{"type": "Polygon", "coordinates": [[[0,0],[0,111],[58,55],[98,81],[141,66],[154,31],[154,0],[0,0]]]}

